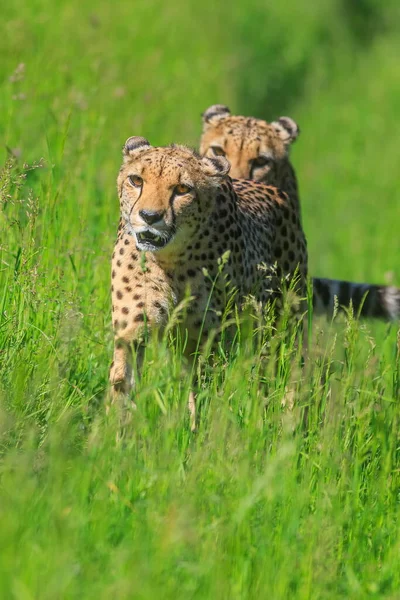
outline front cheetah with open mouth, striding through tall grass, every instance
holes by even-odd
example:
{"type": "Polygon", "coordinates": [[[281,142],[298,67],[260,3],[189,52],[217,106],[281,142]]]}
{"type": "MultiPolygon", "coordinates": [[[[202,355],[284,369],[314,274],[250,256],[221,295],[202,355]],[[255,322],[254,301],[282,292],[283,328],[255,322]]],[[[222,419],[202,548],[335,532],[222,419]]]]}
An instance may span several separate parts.
{"type": "Polygon", "coordinates": [[[307,245],[296,206],[273,186],[232,180],[229,168],[226,158],[185,146],[126,141],[111,268],[113,398],[135,383],[131,346],[146,329],[162,331],[188,293],[188,356],[200,334],[220,327],[231,290],[237,303],[252,294],[265,305],[286,277],[304,296],[307,245]]]}

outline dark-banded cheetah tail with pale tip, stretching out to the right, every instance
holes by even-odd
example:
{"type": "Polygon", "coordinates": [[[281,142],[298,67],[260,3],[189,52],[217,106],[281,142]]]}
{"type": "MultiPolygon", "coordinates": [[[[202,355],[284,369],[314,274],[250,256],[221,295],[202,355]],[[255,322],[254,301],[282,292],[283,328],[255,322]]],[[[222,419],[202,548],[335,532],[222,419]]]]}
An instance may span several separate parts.
{"type": "Polygon", "coordinates": [[[400,319],[400,288],[319,277],[314,277],[312,284],[315,314],[332,316],[335,303],[339,310],[349,308],[351,303],[354,314],[361,317],[400,319]]]}

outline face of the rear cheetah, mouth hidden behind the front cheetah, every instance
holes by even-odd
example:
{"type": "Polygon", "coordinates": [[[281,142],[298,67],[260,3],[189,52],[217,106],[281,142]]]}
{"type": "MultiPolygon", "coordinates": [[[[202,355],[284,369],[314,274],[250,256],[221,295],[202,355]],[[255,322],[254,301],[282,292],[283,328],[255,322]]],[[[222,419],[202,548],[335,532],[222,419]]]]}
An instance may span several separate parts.
{"type": "Polygon", "coordinates": [[[289,117],[267,123],[232,116],[226,106],[217,104],[203,114],[200,153],[226,157],[231,177],[274,183],[277,166],[288,159],[298,134],[297,124],[289,117]]]}

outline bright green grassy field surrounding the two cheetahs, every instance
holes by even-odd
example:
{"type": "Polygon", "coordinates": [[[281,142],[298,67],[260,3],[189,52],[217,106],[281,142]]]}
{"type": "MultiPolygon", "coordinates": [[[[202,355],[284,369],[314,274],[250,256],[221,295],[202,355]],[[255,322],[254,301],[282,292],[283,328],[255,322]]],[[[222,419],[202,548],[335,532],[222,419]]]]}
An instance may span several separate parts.
{"type": "Polygon", "coordinates": [[[303,370],[244,330],[195,436],[173,344],[122,443],[103,405],[130,135],[292,116],[311,273],[400,285],[399,26],[395,0],[2,7],[0,598],[400,598],[397,324],[317,321],[303,370]]]}

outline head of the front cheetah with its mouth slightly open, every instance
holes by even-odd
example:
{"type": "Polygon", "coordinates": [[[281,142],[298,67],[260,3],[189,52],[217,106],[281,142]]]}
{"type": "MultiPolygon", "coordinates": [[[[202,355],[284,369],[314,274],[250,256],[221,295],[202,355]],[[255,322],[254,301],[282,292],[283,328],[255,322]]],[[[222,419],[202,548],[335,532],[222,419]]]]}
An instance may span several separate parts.
{"type": "Polygon", "coordinates": [[[155,148],[140,137],[129,138],[123,153],[121,215],[138,250],[160,252],[187,243],[211,212],[228,161],[201,158],[184,146],[155,148]]]}

